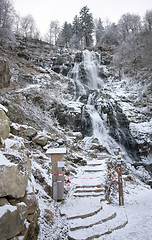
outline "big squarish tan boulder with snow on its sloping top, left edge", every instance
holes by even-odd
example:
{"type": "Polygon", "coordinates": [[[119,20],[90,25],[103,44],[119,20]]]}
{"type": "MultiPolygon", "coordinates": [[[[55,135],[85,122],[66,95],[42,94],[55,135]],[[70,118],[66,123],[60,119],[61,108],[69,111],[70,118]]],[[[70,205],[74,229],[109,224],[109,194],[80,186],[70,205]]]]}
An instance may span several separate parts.
{"type": "Polygon", "coordinates": [[[25,195],[26,187],[27,176],[0,152],[0,197],[21,198],[25,195]]]}

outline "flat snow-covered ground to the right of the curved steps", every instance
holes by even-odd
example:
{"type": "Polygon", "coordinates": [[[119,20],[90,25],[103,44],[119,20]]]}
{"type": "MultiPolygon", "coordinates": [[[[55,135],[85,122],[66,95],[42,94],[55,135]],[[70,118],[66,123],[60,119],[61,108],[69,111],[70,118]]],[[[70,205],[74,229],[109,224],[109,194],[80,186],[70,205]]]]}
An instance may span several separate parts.
{"type": "Polygon", "coordinates": [[[151,240],[152,189],[144,185],[130,188],[130,193],[125,194],[125,211],[128,217],[128,224],[125,228],[99,239],[151,240]]]}

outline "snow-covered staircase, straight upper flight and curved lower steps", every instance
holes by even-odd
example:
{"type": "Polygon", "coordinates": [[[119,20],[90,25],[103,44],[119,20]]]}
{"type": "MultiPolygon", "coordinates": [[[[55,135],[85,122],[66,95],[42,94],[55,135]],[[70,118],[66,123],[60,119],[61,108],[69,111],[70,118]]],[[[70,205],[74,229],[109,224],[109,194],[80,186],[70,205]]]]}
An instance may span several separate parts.
{"type": "Polygon", "coordinates": [[[128,223],[124,207],[114,207],[105,200],[105,159],[101,156],[88,162],[81,177],[73,179],[75,188],[61,207],[61,215],[68,219],[70,240],[102,239],[128,223]]]}

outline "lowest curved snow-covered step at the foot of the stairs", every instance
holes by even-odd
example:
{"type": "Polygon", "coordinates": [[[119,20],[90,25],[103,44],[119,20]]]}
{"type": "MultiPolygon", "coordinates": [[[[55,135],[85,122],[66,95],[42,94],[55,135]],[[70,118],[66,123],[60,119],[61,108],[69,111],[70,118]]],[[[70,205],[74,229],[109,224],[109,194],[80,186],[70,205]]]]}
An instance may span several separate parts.
{"type": "MultiPolygon", "coordinates": [[[[117,211],[116,216],[105,222],[93,225],[88,228],[81,228],[69,231],[69,240],[92,240],[110,234],[114,230],[121,229],[126,226],[128,219],[124,213],[117,211]]],[[[102,238],[101,238],[102,239],[102,238]]]]}

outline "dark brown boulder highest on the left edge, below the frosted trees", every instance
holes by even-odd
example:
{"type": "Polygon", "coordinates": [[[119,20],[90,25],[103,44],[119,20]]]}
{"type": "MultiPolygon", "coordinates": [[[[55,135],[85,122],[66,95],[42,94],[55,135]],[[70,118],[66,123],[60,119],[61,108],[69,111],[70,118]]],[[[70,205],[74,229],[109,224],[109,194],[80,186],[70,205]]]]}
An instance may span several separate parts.
{"type": "Polygon", "coordinates": [[[0,58],[0,89],[8,87],[10,84],[11,74],[8,62],[0,58]]]}

